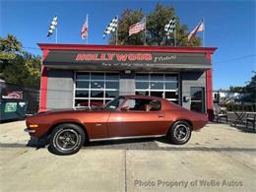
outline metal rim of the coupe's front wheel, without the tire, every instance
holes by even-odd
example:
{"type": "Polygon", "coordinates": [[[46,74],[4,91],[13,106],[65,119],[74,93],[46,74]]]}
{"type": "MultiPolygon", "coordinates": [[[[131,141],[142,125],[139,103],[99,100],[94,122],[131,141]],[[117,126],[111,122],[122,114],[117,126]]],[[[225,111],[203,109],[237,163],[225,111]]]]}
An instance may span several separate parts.
{"type": "Polygon", "coordinates": [[[73,150],[79,142],[79,134],[73,129],[60,130],[55,137],[56,146],[62,151],[73,150]]]}

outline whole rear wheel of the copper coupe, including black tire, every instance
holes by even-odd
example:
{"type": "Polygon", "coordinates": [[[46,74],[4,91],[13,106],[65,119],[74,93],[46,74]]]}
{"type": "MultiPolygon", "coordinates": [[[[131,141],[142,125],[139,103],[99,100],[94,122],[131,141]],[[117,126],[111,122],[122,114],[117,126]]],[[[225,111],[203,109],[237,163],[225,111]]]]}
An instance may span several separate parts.
{"type": "Polygon", "coordinates": [[[191,137],[192,127],[186,121],[175,122],[169,131],[169,139],[172,144],[183,145],[187,143],[191,137]]]}

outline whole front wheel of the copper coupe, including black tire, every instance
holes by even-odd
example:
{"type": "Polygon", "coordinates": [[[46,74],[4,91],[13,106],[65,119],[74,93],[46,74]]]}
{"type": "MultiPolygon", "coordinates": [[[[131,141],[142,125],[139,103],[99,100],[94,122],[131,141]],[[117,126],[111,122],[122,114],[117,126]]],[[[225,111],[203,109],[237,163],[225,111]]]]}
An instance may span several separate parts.
{"type": "Polygon", "coordinates": [[[85,141],[85,132],[79,125],[63,123],[53,129],[49,147],[53,154],[67,156],[76,154],[85,141]]]}

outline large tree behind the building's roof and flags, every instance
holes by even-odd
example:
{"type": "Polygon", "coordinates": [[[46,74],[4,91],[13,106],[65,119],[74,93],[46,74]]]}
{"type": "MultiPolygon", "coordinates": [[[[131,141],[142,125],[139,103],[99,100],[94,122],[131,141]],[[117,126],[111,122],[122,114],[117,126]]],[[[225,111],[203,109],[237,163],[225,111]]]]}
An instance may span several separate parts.
{"type": "MultiPolygon", "coordinates": [[[[142,10],[124,10],[118,23],[118,44],[144,44],[145,32],[129,36],[129,27],[140,22],[145,16],[142,10]]],[[[176,45],[200,46],[201,39],[194,36],[188,41],[188,27],[181,25],[172,6],[163,6],[158,3],[155,9],[147,16],[147,44],[148,45],[173,45],[174,36],[169,39],[164,32],[164,26],[172,19],[176,19],[176,45]]],[[[111,33],[110,44],[115,44],[115,33],[111,33]]]]}

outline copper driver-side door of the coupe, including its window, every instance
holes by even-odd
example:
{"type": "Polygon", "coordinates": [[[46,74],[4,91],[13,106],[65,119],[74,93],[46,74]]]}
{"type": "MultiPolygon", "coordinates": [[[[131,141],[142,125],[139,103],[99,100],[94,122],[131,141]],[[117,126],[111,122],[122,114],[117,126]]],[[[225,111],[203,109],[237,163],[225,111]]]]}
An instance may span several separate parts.
{"type": "MultiPolygon", "coordinates": [[[[110,138],[163,135],[167,123],[163,111],[146,111],[144,103],[149,99],[128,98],[122,105],[122,110],[111,111],[108,117],[107,129],[110,138]]],[[[160,102],[160,101],[159,101],[160,102]]]]}

